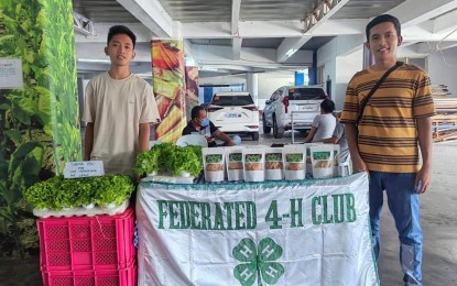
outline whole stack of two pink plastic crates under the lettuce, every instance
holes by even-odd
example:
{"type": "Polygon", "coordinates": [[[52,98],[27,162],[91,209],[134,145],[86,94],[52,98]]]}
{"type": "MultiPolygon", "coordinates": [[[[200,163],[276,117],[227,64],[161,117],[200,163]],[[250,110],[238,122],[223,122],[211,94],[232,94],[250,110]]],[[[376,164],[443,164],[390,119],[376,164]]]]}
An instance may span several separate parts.
{"type": "Polygon", "coordinates": [[[134,211],[37,220],[45,286],[133,286],[134,211]]]}

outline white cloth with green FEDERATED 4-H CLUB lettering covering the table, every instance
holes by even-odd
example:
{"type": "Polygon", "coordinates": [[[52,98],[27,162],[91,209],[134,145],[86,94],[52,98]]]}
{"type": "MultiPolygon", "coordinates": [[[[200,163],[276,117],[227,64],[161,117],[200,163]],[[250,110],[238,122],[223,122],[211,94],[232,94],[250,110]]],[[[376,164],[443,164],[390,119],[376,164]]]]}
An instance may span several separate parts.
{"type": "Polygon", "coordinates": [[[170,184],[137,195],[138,285],[379,285],[368,177],[170,184]]]}

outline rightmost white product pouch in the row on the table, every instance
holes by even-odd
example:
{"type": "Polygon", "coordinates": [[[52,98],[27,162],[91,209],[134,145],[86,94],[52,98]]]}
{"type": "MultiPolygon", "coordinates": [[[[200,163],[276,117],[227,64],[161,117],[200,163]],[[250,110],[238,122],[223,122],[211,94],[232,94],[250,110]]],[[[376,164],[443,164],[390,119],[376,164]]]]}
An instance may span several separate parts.
{"type": "Polygon", "coordinates": [[[311,146],[313,178],[331,178],[334,176],[334,146],[311,146]]]}

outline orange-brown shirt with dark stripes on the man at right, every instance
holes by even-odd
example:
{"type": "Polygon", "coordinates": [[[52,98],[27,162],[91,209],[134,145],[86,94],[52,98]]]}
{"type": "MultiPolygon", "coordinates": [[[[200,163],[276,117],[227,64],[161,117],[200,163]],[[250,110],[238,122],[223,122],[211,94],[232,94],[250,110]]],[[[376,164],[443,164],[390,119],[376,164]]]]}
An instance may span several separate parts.
{"type": "MultiPolygon", "coordinates": [[[[384,73],[367,67],[352,77],[346,91],[342,123],[356,123],[361,100],[384,73]]],[[[416,119],[436,114],[429,85],[424,70],[404,64],[370,98],[358,125],[359,153],[368,169],[420,169],[416,119]]]]}

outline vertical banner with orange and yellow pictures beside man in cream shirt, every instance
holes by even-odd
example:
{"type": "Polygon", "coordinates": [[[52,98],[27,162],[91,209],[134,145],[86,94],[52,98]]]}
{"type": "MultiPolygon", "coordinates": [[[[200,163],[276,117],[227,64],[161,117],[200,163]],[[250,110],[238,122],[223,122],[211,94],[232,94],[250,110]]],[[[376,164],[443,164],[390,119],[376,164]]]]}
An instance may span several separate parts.
{"type": "Polygon", "coordinates": [[[176,142],[186,127],[184,44],[182,40],[152,40],[154,96],[162,122],[155,140],[176,142]]]}

